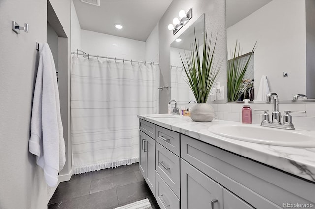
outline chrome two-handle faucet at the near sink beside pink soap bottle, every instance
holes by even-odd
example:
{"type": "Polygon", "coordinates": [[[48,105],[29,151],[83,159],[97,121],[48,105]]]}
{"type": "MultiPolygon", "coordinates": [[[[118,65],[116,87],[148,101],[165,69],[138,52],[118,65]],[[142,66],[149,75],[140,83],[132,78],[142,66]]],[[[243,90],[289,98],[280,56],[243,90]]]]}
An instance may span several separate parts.
{"type": "Polygon", "coordinates": [[[290,113],[306,113],[306,111],[289,111],[285,110],[284,115],[284,123],[281,123],[281,114],[279,112],[279,100],[278,95],[276,93],[268,93],[266,95],[266,102],[270,103],[271,98],[274,99],[274,106],[272,111],[272,121],[269,121],[269,114],[267,113],[268,110],[254,110],[254,111],[264,111],[264,114],[262,115],[262,121],[261,126],[266,127],[272,127],[272,128],[278,128],[278,129],[288,129],[288,130],[294,130],[294,125],[292,123],[292,116],[290,113]]]}

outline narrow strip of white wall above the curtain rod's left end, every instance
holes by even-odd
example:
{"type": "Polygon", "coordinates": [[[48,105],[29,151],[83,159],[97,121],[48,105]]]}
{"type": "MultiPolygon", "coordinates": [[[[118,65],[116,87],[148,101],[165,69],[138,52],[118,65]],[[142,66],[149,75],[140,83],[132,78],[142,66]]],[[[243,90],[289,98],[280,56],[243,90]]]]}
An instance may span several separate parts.
{"type": "Polygon", "coordinates": [[[76,52],[77,49],[81,49],[81,26],[71,0],[71,52],[76,52]]]}

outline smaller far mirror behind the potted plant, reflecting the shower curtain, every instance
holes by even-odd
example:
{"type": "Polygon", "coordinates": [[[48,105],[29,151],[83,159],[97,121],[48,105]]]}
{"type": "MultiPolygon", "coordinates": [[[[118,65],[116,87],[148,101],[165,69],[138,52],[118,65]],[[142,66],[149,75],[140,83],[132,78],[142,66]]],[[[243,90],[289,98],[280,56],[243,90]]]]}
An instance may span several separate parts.
{"type": "MultiPolygon", "coordinates": [[[[189,104],[195,97],[187,84],[187,76],[183,69],[180,55],[185,56],[191,50],[194,42],[194,32],[199,41],[199,47],[203,47],[204,14],[189,26],[173,43],[171,43],[171,99],[179,104],[189,104]]],[[[201,50],[202,51],[202,50],[201,50]]]]}

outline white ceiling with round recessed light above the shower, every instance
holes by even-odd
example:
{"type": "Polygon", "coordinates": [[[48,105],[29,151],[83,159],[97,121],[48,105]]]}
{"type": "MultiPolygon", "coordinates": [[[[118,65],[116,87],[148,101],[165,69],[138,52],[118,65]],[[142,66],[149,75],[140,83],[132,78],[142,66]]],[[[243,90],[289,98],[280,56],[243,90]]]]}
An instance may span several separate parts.
{"type": "Polygon", "coordinates": [[[81,29],[146,41],[172,0],[100,0],[100,6],[73,2],[81,29]]]}

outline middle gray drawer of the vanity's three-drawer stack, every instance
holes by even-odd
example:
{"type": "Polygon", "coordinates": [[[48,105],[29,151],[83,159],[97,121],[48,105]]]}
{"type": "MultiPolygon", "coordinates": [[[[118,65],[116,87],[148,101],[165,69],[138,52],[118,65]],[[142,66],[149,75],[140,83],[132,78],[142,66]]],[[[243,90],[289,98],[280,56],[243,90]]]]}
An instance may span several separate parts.
{"type": "Polygon", "coordinates": [[[156,171],[167,185],[180,196],[179,157],[156,142],[156,171]]]}

